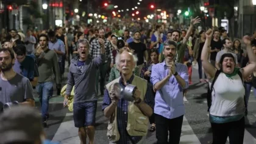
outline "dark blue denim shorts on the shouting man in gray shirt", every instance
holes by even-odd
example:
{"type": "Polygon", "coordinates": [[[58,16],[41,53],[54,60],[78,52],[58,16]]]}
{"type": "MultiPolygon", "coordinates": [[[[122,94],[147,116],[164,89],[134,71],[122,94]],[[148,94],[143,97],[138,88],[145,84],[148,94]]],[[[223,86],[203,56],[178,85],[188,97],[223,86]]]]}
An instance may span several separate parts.
{"type": "Polygon", "coordinates": [[[94,126],[97,110],[97,100],[87,101],[85,103],[73,104],[73,118],[76,128],[84,126],[94,126]]]}

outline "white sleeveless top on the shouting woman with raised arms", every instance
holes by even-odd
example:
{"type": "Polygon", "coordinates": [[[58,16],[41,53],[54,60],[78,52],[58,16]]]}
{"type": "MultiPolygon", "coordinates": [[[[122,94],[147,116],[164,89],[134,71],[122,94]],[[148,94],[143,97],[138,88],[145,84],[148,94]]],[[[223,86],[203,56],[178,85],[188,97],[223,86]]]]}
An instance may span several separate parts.
{"type": "Polygon", "coordinates": [[[244,114],[245,89],[243,81],[238,74],[231,78],[221,72],[215,81],[212,91],[211,115],[228,117],[244,114]]]}

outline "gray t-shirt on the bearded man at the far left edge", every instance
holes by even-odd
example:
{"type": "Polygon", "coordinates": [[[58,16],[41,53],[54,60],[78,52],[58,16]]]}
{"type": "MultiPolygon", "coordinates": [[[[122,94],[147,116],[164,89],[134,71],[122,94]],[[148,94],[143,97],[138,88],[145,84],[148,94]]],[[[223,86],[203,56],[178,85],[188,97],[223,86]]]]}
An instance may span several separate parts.
{"type": "Polygon", "coordinates": [[[5,81],[0,77],[0,111],[5,103],[18,101],[19,103],[28,98],[34,99],[33,89],[29,79],[16,74],[11,80],[5,81]]]}

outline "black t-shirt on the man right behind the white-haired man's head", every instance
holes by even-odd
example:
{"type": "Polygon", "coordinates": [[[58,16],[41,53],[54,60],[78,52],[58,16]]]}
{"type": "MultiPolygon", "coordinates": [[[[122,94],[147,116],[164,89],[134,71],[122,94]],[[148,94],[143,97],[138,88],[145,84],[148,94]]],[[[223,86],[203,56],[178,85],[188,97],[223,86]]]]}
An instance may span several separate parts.
{"type": "Polygon", "coordinates": [[[144,63],[144,51],[146,50],[146,45],[143,43],[129,43],[129,47],[134,50],[134,55],[137,55],[138,62],[137,66],[144,63]]]}

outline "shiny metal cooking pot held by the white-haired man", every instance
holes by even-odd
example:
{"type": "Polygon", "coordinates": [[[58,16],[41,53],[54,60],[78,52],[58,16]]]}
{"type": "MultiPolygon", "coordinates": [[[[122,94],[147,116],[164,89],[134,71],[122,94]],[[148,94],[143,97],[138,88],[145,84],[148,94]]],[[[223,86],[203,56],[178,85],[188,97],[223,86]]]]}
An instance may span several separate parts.
{"type": "Polygon", "coordinates": [[[115,95],[120,96],[119,98],[124,98],[124,100],[133,101],[134,100],[134,92],[136,91],[137,87],[133,86],[132,84],[127,84],[126,87],[120,86],[119,83],[114,84],[114,92],[115,95]]]}

